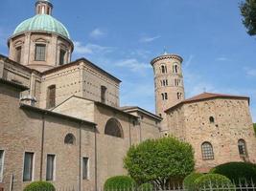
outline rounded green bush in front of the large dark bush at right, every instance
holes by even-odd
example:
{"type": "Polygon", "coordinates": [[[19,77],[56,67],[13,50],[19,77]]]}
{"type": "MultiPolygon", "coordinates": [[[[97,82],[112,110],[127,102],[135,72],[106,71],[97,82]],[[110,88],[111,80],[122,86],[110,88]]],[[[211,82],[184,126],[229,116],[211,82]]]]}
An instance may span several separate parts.
{"type": "Polygon", "coordinates": [[[232,189],[234,187],[231,180],[218,174],[206,174],[198,177],[198,179],[195,180],[195,186],[198,190],[213,187],[215,191],[230,190],[230,188],[232,189]]]}

